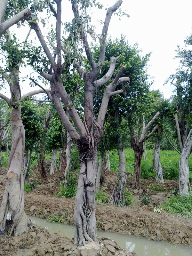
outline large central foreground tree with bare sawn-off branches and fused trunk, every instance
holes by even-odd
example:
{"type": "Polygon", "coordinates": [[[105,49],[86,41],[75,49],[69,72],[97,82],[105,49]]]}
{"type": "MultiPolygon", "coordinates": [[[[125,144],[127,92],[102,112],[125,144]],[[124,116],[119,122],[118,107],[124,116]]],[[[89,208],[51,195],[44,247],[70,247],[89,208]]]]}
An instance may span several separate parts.
{"type": "MultiPolygon", "coordinates": [[[[66,24],[66,28],[69,32],[67,40],[63,40],[61,43],[61,1],[55,1],[57,4],[57,11],[54,8],[53,14],[56,17],[56,47],[55,55],[51,54],[42,32],[37,23],[31,23],[32,28],[36,31],[36,35],[39,38],[39,41],[44,49],[44,52],[47,55],[47,58],[50,61],[51,68],[49,72],[41,72],[41,75],[48,79],[51,83],[51,93],[52,100],[57,109],[59,116],[70,133],[72,139],[77,143],[79,154],[80,154],[80,170],[79,178],[77,185],[77,193],[75,200],[75,210],[74,210],[74,219],[75,219],[75,244],[82,245],[85,244],[85,241],[97,241],[96,235],[96,219],[95,219],[95,175],[97,169],[97,146],[100,140],[101,132],[103,129],[104,118],[107,111],[108,101],[111,96],[121,93],[122,90],[116,90],[117,84],[129,81],[129,77],[121,78],[121,74],[124,70],[122,66],[117,73],[115,79],[106,86],[105,92],[103,94],[103,100],[101,103],[100,111],[98,114],[97,120],[94,117],[93,109],[93,100],[94,92],[96,88],[101,85],[106,84],[109,79],[112,77],[116,61],[119,57],[110,58],[110,67],[108,72],[101,79],[96,80],[98,74],[101,71],[101,68],[104,64],[105,58],[105,41],[108,32],[108,26],[111,19],[111,16],[119,6],[122,4],[122,0],[118,0],[116,4],[107,9],[106,19],[104,21],[103,30],[100,36],[100,57],[99,60],[94,60],[92,58],[92,52],[88,44],[86,35],[92,35],[92,25],[90,24],[90,16],[88,15],[88,10],[90,6],[95,4],[93,1],[82,2],[79,0],[71,1],[72,10],[74,13],[74,18],[71,23],[66,24]],[[89,24],[89,26],[87,26],[89,24]],[[79,49],[80,43],[83,43],[83,47],[86,53],[86,56],[90,62],[90,70],[85,71],[83,67],[80,66],[77,52],[79,49]],[[71,48],[70,48],[71,47],[71,48]],[[70,50],[73,51],[74,55],[70,53],[70,50]],[[76,52],[77,50],[77,52],[76,52]],[[64,63],[62,63],[62,52],[64,52],[64,63]],[[57,55],[57,62],[55,57],[57,55]],[[73,55],[73,56],[72,56],[73,55]],[[70,101],[70,98],[66,92],[65,87],[63,86],[61,75],[65,71],[65,67],[69,67],[71,60],[74,60],[76,68],[79,74],[84,79],[84,120],[82,121],[78,115],[74,105],[70,101]],[[75,127],[68,118],[66,112],[63,109],[61,104],[63,101],[65,108],[73,120],[75,127]]],[[[96,5],[96,4],[95,4],[96,5]]],[[[98,3],[99,8],[102,6],[98,3]]],[[[52,38],[54,39],[54,37],[52,38]]],[[[55,42],[52,42],[54,45],[55,42]]],[[[81,52],[81,49],[80,49],[81,52]]]]}

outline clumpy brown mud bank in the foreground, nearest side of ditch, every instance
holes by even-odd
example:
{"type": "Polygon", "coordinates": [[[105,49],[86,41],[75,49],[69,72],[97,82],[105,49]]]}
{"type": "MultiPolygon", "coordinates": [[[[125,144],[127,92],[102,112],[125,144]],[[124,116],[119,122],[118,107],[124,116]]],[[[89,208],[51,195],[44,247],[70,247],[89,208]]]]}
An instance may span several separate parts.
{"type": "Polygon", "coordinates": [[[51,235],[44,228],[34,226],[20,236],[0,236],[0,255],[3,256],[137,256],[134,252],[121,250],[116,242],[102,238],[99,243],[90,242],[85,246],[73,245],[73,240],[51,235]]]}

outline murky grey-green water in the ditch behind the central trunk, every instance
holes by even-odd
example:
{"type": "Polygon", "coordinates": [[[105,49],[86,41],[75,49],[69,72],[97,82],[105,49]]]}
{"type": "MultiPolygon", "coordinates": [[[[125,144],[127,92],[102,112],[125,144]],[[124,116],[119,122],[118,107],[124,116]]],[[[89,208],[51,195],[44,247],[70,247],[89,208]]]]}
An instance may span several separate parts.
{"type": "MultiPolygon", "coordinates": [[[[46,228],[51,234],[57,233],[60,236],[72,238],[74,236],[75,228],[72,225],[51,223],[45,219],[29,217],[29,219],[36,225],[46,228]]],[[[145,238],[136,236],[127,236],[117,233],[110,233],[105,231],[98,231],[100,237],[110,237],[122,249],[129,249],[129,251],[136,252],[140,256],[192,256],[192,247],[183,245],[168,244],[162,241],[151,241],[145,238]]]]}

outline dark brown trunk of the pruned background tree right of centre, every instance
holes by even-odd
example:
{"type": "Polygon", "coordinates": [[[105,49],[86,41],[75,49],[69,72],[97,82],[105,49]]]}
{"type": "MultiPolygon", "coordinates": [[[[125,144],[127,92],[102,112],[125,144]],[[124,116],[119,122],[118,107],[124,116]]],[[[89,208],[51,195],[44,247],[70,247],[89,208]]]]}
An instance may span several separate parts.
{"type": "Polygon", "coordinates": [[[138,143],[136,148],[134,148],[135,153],[135,161],[133,164],[134,172],[133,172],[133,184],[132,189],[141,188],[140,186],[140,178],[141,178],[141,159],[143,155],[143,145],[142,143],[138,143]],[[140,147],[139,147],[140,146],[140,147]]]}

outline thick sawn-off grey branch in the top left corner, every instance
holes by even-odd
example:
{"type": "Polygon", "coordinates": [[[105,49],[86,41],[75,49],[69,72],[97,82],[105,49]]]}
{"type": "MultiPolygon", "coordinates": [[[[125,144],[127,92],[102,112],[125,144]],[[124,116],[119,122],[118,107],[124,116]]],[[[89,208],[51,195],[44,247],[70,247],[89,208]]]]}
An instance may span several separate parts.
{"type": "Polygon", "coordinates": [[[9,20],[5,20],[3,23],[1,23],[0,24],[0,37],[8,28],[10,28],[12,25],[16,24],[20,20],[28,17],[29,15],[31,15],[31,12],[30,12],[29,8],[27,7],[23,11],[14,15],[13,17],[11,17],[9,20]]]}

